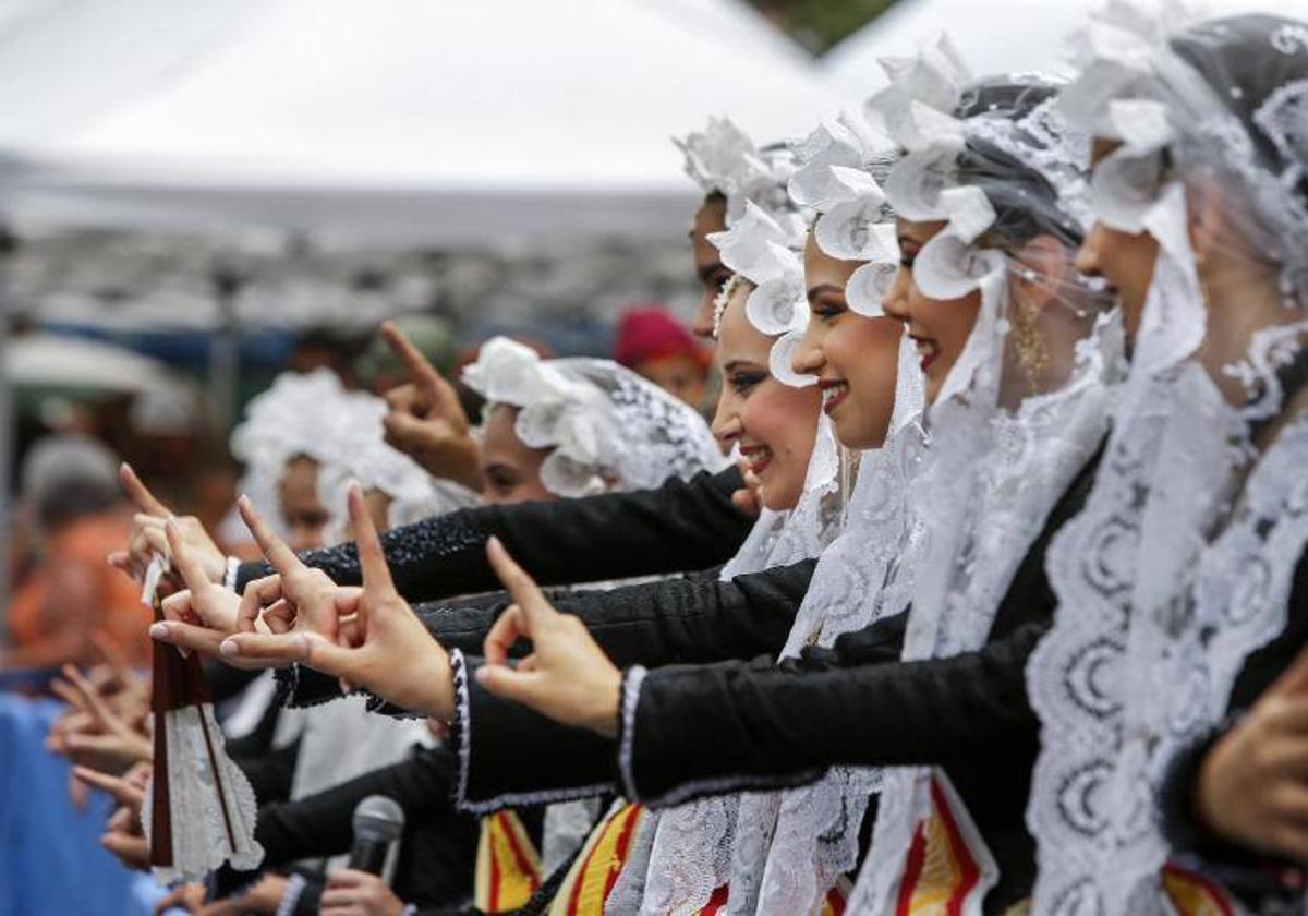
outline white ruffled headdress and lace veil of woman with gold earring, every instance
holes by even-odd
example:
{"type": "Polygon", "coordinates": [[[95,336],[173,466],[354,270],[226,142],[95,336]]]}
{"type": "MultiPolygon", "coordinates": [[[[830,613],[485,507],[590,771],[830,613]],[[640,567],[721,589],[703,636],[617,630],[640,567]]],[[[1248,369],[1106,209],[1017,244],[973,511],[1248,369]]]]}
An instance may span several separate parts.
{"type": "MultiPolygon", "coordinates": [[[[886,183],[889,204],[908,220],[944,222],[917,255],[914,283],[935,300],[980,297],[926,410],[909,546],[887,590],[887,612],[909,611],[903,658],[916,661],[985,644],[1050,509],[1107,434],[1120,334],[1107,298],[1073,267],[1088,144],[1054,110],[1056,86],[1037,76],[965,84],[946,39],[886,68],[891,85],[869,113],[906,150],[886,183]]],[[[883,773],[853,911],[895,909],[933,783],[947,784],[943,771],[883,773]]],[[[954,807],[967,818],[960,801],[954,807]]],[[[981,900],[997,869],[974,828],[964,834],[981,900]]]]}

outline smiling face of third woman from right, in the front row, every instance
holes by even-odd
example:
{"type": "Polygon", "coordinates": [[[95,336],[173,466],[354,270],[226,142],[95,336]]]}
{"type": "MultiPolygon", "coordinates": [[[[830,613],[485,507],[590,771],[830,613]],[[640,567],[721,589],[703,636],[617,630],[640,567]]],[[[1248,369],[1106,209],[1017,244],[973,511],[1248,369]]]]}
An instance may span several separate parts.
{"type": "Polygon", "coordinates": [[[821,251],[812,233],[804,246],[808,325],[791,364],[818,377],[823,411],[836,437],[850,449],[875,449],[886,441],[895,411],[895,381],[903,328],[888,318],[849,309],[845,284],[862,262],[837,260],[821,251]]]}

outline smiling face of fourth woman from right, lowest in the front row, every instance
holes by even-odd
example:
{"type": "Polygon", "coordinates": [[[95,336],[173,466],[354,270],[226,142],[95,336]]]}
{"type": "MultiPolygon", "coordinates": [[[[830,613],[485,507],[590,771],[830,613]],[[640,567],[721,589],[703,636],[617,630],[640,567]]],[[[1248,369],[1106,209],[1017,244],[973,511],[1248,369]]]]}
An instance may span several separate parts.
{"type": "Polygon", "coordinates": [[[772,338],[744,311],[751,291],[748,284],[736,288],[718,327],[722,394],[713,434],[726,448],[739,446],[746,471],[759,480],[763,505],[782,512],[793,509],[804,489],[818,436],[818,390],[791,387],[768,370],[772,338]]]}

